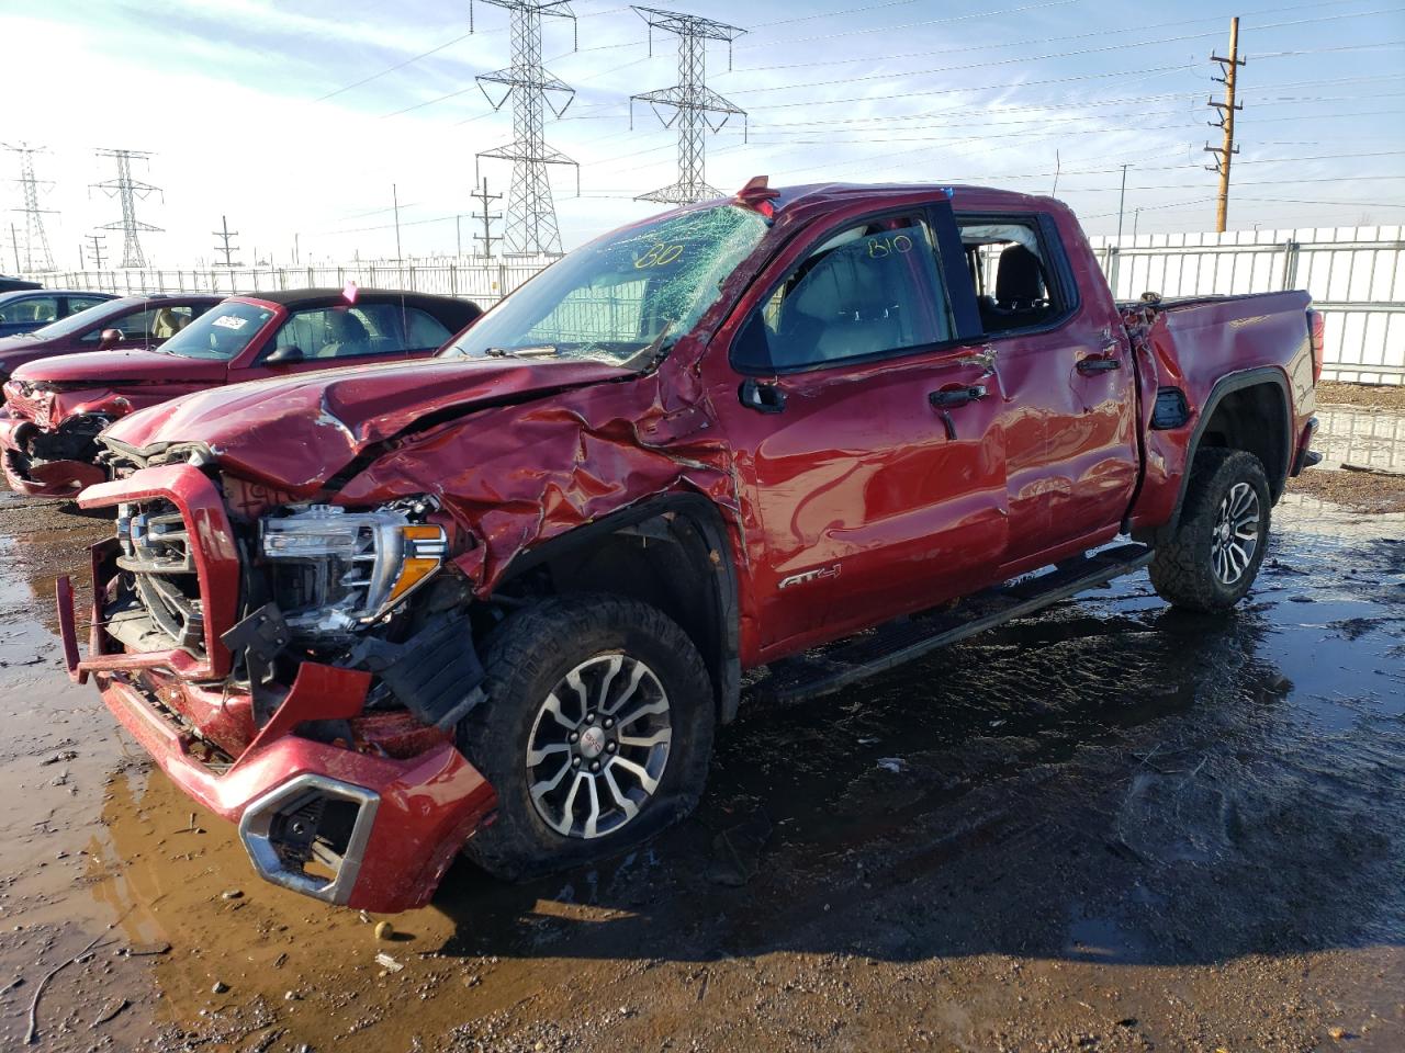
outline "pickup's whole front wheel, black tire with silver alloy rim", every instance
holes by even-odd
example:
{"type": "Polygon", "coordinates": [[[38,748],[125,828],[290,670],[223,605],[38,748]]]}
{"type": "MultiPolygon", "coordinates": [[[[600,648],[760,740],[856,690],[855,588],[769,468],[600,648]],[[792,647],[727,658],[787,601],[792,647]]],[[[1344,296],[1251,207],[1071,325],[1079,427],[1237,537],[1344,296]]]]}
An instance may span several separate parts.
{"type": "Polygon", "coordinates": [[[615,855],[693,810],[712,748],[702,658],[662,611],[547,600],[504,623],[459,747],[497,790],[466,854],[523,879],[615,855]]]}

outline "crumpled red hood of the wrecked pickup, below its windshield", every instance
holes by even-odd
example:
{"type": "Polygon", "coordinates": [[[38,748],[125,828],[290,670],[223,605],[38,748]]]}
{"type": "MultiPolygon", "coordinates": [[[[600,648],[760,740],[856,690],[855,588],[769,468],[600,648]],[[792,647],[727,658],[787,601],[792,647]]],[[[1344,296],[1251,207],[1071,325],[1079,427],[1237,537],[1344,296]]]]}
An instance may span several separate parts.
{"type": "Polygon", "coordinates": [[[124,417],[107,438],[136,449],[204,444],[223,469],[315,491],[367,446],[426,417],[635,376],[604,362],[433,358],[348,366],[197,392],[124,417]]]}

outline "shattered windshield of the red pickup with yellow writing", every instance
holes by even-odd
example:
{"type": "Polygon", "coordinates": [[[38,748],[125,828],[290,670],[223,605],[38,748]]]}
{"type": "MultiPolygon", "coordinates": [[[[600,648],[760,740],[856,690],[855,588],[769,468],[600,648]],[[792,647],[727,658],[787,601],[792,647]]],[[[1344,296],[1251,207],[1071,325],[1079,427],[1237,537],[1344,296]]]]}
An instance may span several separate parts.
{"type": "Polygon", "coordinates": [[[440,355],[645,369],[697,323],[764,233],[756,212],[718,205],[606,234],[513,292],[440,355]]]}

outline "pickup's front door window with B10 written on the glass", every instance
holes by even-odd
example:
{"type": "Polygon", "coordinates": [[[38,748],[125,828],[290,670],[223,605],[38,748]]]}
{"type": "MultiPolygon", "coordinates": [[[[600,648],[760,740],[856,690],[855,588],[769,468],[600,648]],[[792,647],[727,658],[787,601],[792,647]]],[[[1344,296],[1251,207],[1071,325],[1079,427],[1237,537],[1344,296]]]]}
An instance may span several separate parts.
{"type": "Polygon", "coordinates": [[[784,372],[954,338],[927,220],[885,216],[816,246],[747,320],[733,361],[784,372]]]}

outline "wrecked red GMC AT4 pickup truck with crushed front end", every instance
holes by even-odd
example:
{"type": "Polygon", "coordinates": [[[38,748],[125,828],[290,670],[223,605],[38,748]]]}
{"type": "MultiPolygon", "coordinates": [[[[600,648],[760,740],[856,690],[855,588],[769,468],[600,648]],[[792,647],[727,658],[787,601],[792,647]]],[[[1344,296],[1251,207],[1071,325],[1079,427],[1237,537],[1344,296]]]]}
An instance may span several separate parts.
{"type": "Polygon", "coordinates": [[[823,694],[1141,567],[1235,604],[1314,461],[1308,303],[1114,303],[1050,198],[757,178],[429,362],[115,424],[69,668],[302,893],[614,854],[697,802],[743,674],[823,694]]]}

